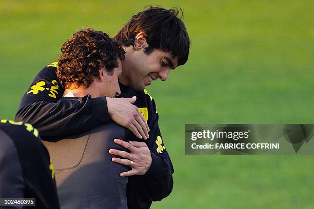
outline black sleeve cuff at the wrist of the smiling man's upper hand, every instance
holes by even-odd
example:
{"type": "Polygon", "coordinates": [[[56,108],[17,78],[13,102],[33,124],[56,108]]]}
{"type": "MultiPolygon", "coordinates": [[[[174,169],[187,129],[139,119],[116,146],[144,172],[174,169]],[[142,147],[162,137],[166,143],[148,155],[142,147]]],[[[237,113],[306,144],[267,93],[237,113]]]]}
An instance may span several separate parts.
{"type": "Polygon", "coordinates": [[[91,114],[94,118],[94,126],[110,121],[106,97],[92,98],[91,114]]]}

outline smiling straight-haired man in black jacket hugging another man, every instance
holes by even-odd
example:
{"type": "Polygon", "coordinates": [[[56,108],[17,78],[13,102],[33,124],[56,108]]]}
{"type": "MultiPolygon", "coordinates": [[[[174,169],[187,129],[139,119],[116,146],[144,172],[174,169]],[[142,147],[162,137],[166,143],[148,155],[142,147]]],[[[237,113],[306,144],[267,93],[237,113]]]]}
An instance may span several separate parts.
{"type": "Polygon", "coordinates": [[[36,76],[16,114],[16,120],[32,122],[43,136],[88,130],[107,123],[110,119],[130,129],[140,138],[140,142],[116,140],[117,144],[130,152],[118,149],[109,151],[125,158],[114,157],[113,162],[132,165],[131,171],[121,173],[123,177],[130,176],[126,189],[129,208],[149,208],[152,201],[160,201],[172,191],[172,163],[159,129],[155,102],[145,86],[158,78],[166,80],[171,69],[184,65],[187,61],[190,40],[184,23],[179,18],[180,12],[182,11],[176,8],[167,10],[148,7],[134,15],[115,36],[126,51],[126,57],[122,61],[123,74],[119,79],[119,97],[136,96],[134,105],[147,121],[149,135],[145,133],[145,123],[133,113],[133,106],[126,105],[123,98],[85,96],[80,102],[58,100],[63,89],[58,85],[54,73],[56,64],[48,65],[36,76]],[[45,83],[40,83],[41,81],[45,83]],[[130,115],[135,115],[135,118],[130,115]]]}

